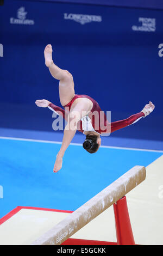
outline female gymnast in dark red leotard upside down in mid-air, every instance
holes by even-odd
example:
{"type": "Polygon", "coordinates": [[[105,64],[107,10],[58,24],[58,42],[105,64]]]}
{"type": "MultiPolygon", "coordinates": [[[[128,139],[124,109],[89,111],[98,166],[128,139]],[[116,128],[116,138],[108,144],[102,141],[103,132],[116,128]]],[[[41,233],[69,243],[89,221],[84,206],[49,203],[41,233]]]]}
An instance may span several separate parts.
{"type": "Polygon", "coordinates": [[[89,153],[96,153],[101,145],[101,135],[104,133],[114,132],[123,127],[136,123],[142,117],[150,114],[154,105],[151,101],[141,112],[131,115],[129,118],[109,123],[105,114],[102,112],[98,103],[87,95],[78,95],[74,93],[73,76],[67,70],[62,70],[54,64],[52,59],[52,46],[45,47],[44,56],[45,64],[48,67],[51,75],[59,80],[59,97],[60,103],[65,108],[62,109],[55,106],[48,100],[36,100],[38,107],[48,107],[52,111],[62,115],[66,119],[67,125],[64,130],[61,148],[55,160],[53,172],[57,173],[62,167],[62,157],[65,154],[68,145],[77,130],[86,135],[83,143],[83,148],[89,153]],[[92,113],[97,113],[93,116],[92,113]],[[98,124],[98,125],[97,125],[98,124]]]}

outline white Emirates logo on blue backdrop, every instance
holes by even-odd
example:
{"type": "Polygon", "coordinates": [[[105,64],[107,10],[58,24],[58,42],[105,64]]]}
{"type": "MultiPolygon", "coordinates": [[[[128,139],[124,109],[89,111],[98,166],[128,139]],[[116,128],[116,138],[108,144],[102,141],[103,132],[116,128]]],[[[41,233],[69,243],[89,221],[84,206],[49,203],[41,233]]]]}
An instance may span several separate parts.
{"type": "Polygon", "coordinates": [[[34,20],[26,19],[27,11],[25,11],[25,7],[21,7],[17,10],[17,19],[11,17],[10,24],[18,24],[18,25],[34,25],[34,20]]]}

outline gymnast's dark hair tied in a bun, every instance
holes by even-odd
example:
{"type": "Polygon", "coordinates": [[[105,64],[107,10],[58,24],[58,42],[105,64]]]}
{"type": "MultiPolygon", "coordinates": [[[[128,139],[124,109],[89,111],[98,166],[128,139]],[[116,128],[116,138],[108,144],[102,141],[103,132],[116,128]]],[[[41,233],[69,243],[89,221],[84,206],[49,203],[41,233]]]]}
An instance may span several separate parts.
{"type": "Polygon", "coordinates": [[[99,148],[99,144],[97,143],[96,135],[86,135],[86,139],[83,143],[83,148],[89,153],[96,153],[99,148]]]}

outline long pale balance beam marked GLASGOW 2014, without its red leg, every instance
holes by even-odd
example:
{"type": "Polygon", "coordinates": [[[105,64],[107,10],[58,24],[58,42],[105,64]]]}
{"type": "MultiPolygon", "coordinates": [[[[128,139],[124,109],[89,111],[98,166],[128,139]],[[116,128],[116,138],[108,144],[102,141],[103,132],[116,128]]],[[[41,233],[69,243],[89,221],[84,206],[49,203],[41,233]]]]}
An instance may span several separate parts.
{"type": "Polygon", "coordinates": [[[31,245],[60,245],[70,236],[83,228],[112,204],[124,197],[146,178],[144,166],[135,166],[128,170],[95,197],[80,206],[72,214],[35,240],[31,245]]]}

